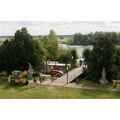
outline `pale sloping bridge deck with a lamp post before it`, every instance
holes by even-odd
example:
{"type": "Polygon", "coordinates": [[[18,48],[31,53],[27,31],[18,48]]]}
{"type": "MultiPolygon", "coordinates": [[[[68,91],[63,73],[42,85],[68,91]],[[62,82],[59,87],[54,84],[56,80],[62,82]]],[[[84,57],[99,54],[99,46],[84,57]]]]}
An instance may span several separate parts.
{"type": "MultiPolygon", "coordinates": [[[[73,81],[82,73],[82,67],[75,68],[68,72],[68,83],[73,81]]],[[[54,80],[50,85],[65,86],[67,83],[67,73],[54,80]]]]}

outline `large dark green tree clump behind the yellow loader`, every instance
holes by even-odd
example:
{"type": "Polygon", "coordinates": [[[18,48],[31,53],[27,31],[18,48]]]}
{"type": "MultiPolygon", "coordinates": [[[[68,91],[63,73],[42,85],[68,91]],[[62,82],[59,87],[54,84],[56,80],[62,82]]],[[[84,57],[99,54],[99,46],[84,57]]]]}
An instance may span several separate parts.
{"type": "Polygon", "coordinates": [[[6,40],[0,46],[0,69],[11,72],[12,70],[27,70],[28,63],[37,69],[43,64],[44,50],[38,41],[28,33],[26,28],[17,30],[10,41],[6,40]]]}

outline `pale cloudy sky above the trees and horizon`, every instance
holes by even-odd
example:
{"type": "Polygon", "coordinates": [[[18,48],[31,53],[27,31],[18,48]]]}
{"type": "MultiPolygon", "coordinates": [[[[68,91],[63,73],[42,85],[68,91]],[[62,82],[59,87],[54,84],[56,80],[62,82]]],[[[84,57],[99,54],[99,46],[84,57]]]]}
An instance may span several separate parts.
{"type": "Polygon", "coordinates": [[[120,21],[0,21],[0,36],[14,35],[22,27],[26,27],[31,35],[46,35],[50,29],[54,29],[57,35],[72,35],[79,32],[120,32],[120,21]]]}

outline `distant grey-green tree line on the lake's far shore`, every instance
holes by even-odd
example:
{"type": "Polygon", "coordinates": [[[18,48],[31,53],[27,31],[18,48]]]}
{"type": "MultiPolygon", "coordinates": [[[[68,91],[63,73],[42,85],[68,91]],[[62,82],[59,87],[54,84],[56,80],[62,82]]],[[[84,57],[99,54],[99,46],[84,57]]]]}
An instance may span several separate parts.
{"type": "Polygon", "coordinates": [[[114,44],[120,44],[120,32],[95,32],[89,34],[76,33],[68,38],[67,44],[69,45],[93,45],[94,41],[100,37],[108,37],[112,39],[114,44]]]}

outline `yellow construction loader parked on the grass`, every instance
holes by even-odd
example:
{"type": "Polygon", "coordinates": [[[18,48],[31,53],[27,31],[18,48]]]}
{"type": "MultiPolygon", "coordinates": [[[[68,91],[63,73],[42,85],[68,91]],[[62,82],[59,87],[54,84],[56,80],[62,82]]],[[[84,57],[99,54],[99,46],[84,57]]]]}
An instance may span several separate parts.
{"type": "Polygon", "coordinates": [[[27,72],[21,72],[21,71],[13,71],[12,74],[8,77],[8,82],[15,86],[19,84],[20,86],[28,85],[28,80],[25,78],[27,75],[27,72]]]}

